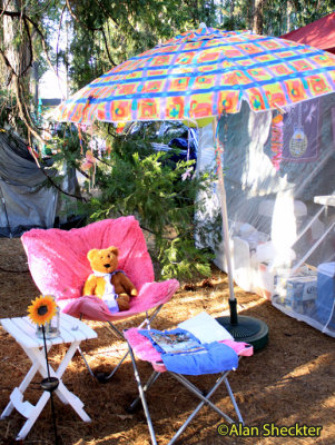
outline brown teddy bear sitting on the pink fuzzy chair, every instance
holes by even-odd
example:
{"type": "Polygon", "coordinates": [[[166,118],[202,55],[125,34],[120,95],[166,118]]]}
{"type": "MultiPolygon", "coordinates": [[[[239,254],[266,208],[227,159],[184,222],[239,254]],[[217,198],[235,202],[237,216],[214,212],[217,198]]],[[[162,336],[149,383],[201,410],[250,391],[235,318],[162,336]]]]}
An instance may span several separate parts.
{"type": "Polygon", "coordinates": [[[92,274],[85,281],[82,290],[82,295],[102,298],[111,313],[129,309],[130,297],[138,294],[127,275],[118,269],[118,255],[115,246],[89,250],[87,258],[92,274]]]}

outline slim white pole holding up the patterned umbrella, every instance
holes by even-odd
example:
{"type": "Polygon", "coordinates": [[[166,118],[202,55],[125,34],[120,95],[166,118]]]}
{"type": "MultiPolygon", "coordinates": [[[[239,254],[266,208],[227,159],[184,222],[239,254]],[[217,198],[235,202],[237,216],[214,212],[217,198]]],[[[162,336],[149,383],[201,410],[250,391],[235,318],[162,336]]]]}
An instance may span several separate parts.
{"type": "Polygon", "coordinates": [[[236,310],[236,298],[234,293],[234,279],[233,279],[233,266],[231,266],[231,249],[229,240],[229,224],[228,224],[228,212],[227,212],[227,199],[225,189],[225,179],[223,172],[223,150],[217,135],[217,117],[213,121],[213,131],[215,136],[215,154],[216,154],[216,166],[218,176],[218,195],[220,201],[221,217],[223,217],[223,233],[224,233],[224,246],[225,246],[225,257],[227,261],[228,271],[228,285],[229,285],[229,306],[230,306],[230,319],[231,324],[237,323],[237,310],[236,310]]]}

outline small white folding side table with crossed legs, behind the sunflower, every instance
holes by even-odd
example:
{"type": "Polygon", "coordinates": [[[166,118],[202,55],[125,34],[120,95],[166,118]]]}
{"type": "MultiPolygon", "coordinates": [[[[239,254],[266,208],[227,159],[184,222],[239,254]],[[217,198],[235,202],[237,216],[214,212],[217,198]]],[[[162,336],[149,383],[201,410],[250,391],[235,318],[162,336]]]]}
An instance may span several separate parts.
{"type": "MultiPolygon", "coordinates": [[[[9,416],[13,408],[16,408],[22,416],[27,418],[24,425],[17,436],[17,441],[21,441],[24,439],[27,434],[30,432],[32,425],[37,421],[50,397],[50,393],[45,390],[36,405],[32,405],[27,400],[23,402],[23,393],[29,386],[33,376],[39,372],[43,378],[48,377],[43,339],[36,336],[36,325],[31,324],[28,317],[2,318],[0,323],[3,329],[17,340],[32,363],[31,368],[27,373],[20,386],[12,390],[10,395],[10,402],[1,414],[2,419],[9,416]]],[[[61,380],[61,376],[73,357],[73,354],[76,353],[77,347],[80,345],[80,342],[96,337],[97,333],[78,318],[73,318],[67,314],[60,314],[59,337],[47,339],[48,350],[50,350],[53,345],[60,345],[63,343],[69,344],[69,348],[58,369],[52,369],[49,364],[49,370],[51,377],[53,376],[59,379],[59,386],[55,390],[57,396],[63,404],[71,405],[83,422],[91,421],[82,409],[83,403],[65,386],[61,380]]]]}

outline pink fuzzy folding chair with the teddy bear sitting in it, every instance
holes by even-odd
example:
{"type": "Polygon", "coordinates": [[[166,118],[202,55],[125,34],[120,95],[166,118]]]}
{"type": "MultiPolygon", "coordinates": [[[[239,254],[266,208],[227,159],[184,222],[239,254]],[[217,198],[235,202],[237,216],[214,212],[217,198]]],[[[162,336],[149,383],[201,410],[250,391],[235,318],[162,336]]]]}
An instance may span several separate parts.
{"type": "MultiPolygon", "coordinates": [[[[53,295],[61,310],[69,315],[88,320],[108,322],[121,336],[112,322],[144,313],[146,318],[142,325],[149,326],[149,322],[179,287],[176,279],[155,281],[152,261],[144,234],[132,216],[105,219],[69,231],[32,229],[22,235],[21,241],[31,276],[41,294],[53,295]],[[118,247],[118,268],[129,276],[139,291],[136,298],[131,298],[129,310],[116,314],[110,314],[100,298],[81,296],[83,284],[91,273],[87,253],[93,248],[104,249],[109,246],[118,247]],[[154,309],[150,318],[149,309],[154,309]]],[[[110,378],[117,368],[108,377],[100,375],[98,378],[110,378]]],[[[91,369],[89,370],[92,374],[91,369]]]]}

